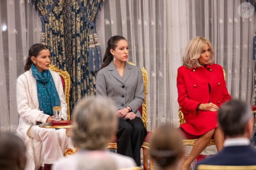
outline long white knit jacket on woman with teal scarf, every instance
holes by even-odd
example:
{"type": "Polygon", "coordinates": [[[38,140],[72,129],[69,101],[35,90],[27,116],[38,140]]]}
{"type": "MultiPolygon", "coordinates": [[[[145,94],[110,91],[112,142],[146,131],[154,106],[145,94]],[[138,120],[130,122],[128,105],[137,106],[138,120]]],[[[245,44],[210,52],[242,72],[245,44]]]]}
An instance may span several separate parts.
{"type": "MultiPolygon", "coordinates": [[[[61,117],[64,120],[67,120],[67,103],[65,101],[64,90],[60,79],[60,75],[51,70],[50,72],[53,76],[53,80],[60,97],[61,117]]],[[[37,147],[40,150],[41,141],[35,141],[31,137],[27,136],[27,130],[32,125],[35,125],[37,122],[45,123],[49,115],[44,114],[43,111],[39,110],[37,83],[32,75],[31,69],[18,77],[16,85],[16,94],[17,108],[20,116],[17,134],[26,143],[27,151],[29,154],[27,167],[28,169],[33,170],[35,169],[35,167],[41,166],[34,164],[37,163],[38,161],[36,160],[37,158],[34,155],[33,150],[34,148],[37,147]]]]}

